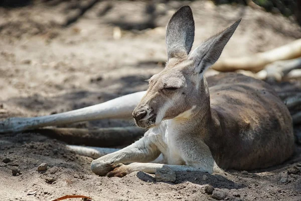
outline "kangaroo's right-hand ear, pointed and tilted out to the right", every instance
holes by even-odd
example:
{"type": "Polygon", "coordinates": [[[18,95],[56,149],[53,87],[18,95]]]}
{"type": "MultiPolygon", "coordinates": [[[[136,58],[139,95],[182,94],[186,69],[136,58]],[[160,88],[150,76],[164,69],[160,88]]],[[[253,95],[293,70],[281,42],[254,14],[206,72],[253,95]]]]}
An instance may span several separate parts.
{"type": "Polygon", "coordinates": [[[210,37],[191,53],[189,59],[195,61],[195,71],[197,73],[203,73],[218,60],[240,21],[241,19],[226,30],[210,37]]]}

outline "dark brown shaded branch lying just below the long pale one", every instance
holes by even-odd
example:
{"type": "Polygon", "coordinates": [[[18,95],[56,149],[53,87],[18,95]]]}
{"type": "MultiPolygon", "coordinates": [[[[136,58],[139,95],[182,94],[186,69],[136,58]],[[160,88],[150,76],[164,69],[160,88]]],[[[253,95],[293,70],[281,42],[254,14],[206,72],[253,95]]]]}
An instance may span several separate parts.
{"type": "Polygon", "coordinates": [[[40,133],[73,145],[112,147],[131,144],[143,136],[145,130],[138,127],[103,129],[51,128],[25,132],[40,133]]]}

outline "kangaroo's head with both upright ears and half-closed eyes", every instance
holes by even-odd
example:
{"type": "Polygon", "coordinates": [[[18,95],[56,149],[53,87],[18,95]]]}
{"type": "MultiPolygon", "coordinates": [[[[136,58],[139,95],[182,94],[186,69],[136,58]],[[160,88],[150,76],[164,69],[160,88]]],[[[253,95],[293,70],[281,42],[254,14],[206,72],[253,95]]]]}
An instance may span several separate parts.
{"type": "Polygon", "coordinates": [[[204,71],[217,61],[239,22],[190,53],[195,32],[192,11],[185,6],[173,15],[166,30],[168,62],[149,79],[147,92],[133,111],[137,126],[149,128],[163,120],[188,118],[192,109],[209,102],[204,71]]]}

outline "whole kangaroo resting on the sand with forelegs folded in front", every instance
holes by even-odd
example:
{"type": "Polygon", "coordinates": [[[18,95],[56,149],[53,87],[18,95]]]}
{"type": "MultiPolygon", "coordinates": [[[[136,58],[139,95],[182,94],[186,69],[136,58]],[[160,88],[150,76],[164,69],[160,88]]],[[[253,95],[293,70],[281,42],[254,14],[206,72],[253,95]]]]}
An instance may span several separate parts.
{"type": "Polygon", "coordinates": [[[190,52],[192,11],[185,6],[172,16],[166,31],[166,67],[149,79],[132,113],[136,125],[148,130],[128,147],[93,160],[95,174],[155,173],[164,165],[208,173],[252,170],[280,164],[292,155],[292,119],[270,85],[236,73],[214,76],[211,85],[204,77],[239,23],[190,52]],[[166,164],[150,163],[160,154],[166,164]]]}

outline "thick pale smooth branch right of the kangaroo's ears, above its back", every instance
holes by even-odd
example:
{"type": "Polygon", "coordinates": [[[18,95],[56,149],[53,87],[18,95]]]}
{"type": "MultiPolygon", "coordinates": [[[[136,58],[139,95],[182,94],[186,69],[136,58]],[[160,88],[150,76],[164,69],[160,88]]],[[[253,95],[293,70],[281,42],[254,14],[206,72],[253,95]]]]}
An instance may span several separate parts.
{"type": "Polygon", "coordinates": [[[294,59],[297,57],[301,57],[301,39],[252,56],[220,59],[213,65],[213,69],[221,72],[235,70],[250,70],[258,72],[267,64],[274,61],[294,59]]]}

